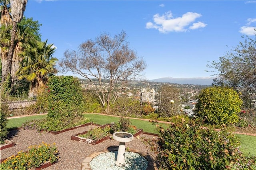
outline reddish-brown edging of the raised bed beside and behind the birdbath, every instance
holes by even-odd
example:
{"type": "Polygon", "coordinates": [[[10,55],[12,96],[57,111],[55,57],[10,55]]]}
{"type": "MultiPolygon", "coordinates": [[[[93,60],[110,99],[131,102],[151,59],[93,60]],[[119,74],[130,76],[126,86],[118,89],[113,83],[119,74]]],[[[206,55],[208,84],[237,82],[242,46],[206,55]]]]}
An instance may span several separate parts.
{"type": "MultiPolygon", "coordinates": [[[[110,126],[110,124],[102,125],[102,126],[99,126],[99,127],[103,129],[106,126],[110,126]]],[[[136,136],[140,135],[142,132],[143,132],[142,129],[137,129],[137,133],[135,133],[133,136],[136,137],[136,136]]],[[[78,133],[76,135],[72,135],[71,136],[71,140],[81,141],[81,142],[85,142],[85,143],[90,143],[92,145],[96,145],[96,144],[101,143],[101,142],[103,142],[103,141],[105,141],[107,139],[111,139],[111,137],[112,137],[112,136],[106,136],[106,137],[104,137],[102,139],[93,140],[93,139],[87,139],[87,138],[83,138],[83,137],[79,136],[79,135],[84,135],[86,133],[88,133],[88,131],[85,131],[85,132],[82,132],[82,133],[78,133]]]]}

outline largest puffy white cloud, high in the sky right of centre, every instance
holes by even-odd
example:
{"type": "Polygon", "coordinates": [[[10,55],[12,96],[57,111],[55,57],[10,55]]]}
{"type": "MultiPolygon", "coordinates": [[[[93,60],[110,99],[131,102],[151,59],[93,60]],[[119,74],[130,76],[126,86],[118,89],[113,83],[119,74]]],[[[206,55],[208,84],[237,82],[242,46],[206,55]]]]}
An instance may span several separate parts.
{"type": "Polygon", "coordinates": [[[146,28],[158,29],[161,33],[167,32],[185,32],[188,29],[198,29],[200,27],[205,27],[207,24],[202,22],[194,23],[196,18],[201,17],[201,14],[195,12],[187,12],[183,14],[182,17],[173,18],[172,12],[168,11],[164,15],[160,16],[155,14],[153,16],[154,23],[146,23],[146,28]],[[189,25],[191,25],[188,27],[189,25]]]}

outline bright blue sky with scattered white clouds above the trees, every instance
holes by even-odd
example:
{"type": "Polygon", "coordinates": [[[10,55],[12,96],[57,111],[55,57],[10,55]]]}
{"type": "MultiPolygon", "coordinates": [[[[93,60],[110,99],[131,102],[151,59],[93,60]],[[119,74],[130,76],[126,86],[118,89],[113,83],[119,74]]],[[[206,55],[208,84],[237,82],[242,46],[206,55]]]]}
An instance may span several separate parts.
{"type": "Polygon", "coordinates": [[[256,1],[28,0],[24,16],[42,24],[42,41],[56,46],[58,59],[103,32],[124,30],[148,65],[145,79],[208,77],[208,61],[242,35],[254,36],[256,1]]]}

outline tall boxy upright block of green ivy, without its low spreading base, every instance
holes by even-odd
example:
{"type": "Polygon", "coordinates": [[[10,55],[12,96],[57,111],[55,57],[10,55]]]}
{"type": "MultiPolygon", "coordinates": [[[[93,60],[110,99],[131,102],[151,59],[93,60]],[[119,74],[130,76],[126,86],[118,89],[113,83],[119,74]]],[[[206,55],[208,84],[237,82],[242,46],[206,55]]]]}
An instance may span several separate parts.
{"type": "Polygon", "coordinates": [[[48,80],[47,117],[66,119],[82,116],[82,89],[78,78],[52,76],[48,80]]]}

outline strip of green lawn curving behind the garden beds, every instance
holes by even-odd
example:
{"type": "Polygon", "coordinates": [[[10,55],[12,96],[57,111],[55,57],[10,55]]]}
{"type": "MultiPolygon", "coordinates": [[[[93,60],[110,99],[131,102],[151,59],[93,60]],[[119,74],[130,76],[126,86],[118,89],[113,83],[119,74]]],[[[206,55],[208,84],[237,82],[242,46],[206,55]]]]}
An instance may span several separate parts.
{"type": "MultiPolygon", "coordinates": [[[[21,118],[15,118],[15,119],[8,119],[7,122],[7,128],[12,129],[12,128],[17,128],[21,127],[22,124],[27,121],[27,120],[32,120],[32,119],[42,119],[46,117],[46,115],[34,115],[34,116],[28,116],[28,117],[21,117],[21,118]]],[[[118,123],[119,117],[112,117],[108,115],[97,115],[97,114],[84,114],[84,117],[90,118],[94,123],[104,125],[107,123],[115,122],[118,123]]],[[[152,123],[148,121],[141,121],[137,119],[130,119],[132,122],[132,125],[136,126],[138,129],[143,129],[144,132],[149,132],[149,133],[158,133],[156,131],[156,126],[152,125],[152,123]]],[[[164,127],[167,127],[165,124],[162,124],[164,127]]],[[[240,139],[241,141],[241,148],[240,150],[243,153],[246,154],[253,154],[256,156],[256,137],[254,136],[248,136],[248,135],[238,135],[236,136],[240,139]]]]}

